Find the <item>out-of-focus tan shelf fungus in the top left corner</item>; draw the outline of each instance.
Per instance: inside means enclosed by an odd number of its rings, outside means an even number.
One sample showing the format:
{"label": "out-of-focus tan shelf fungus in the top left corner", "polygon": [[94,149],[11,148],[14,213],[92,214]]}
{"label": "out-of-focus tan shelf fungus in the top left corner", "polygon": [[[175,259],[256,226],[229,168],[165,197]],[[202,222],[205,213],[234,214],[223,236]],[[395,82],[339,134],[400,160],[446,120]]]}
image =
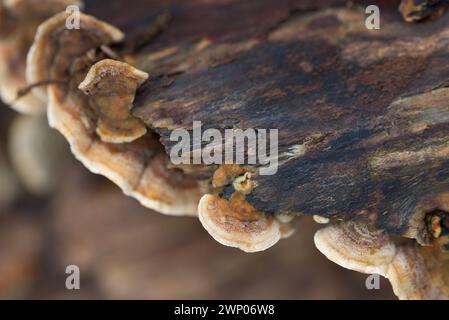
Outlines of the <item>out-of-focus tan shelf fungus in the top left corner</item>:
{"label": "out-of-focus tan shelf fungus in the top left corner", "polygon": [[19,97],[27,87],[26,56],[39,24],[70,5],[81,8],[82,1],[0,1],[0,96],[15,110],[27,114],[45,112],[46,102],[35,95]]}

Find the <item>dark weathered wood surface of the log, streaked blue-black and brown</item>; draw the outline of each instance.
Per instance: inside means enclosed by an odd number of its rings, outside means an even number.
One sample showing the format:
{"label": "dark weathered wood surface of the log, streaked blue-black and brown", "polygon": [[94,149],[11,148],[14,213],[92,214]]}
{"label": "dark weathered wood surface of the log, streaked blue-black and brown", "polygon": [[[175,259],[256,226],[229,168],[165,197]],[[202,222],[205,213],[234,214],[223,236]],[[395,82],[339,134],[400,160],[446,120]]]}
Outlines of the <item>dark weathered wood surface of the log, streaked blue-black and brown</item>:
{"label": "dark weathered wood surface of the log, streaked blue-black and brown", "polygon": [[[381,29],[367,30],[364,8],[338,1],[323,10],[246,3],[175,5],[173,23],[200,22],[169,27],[133,57],[153,76],[134,115],[167,152],[170,129],[193,120],[203,129],[278,128],[281,166],[256,177],[252,205],[405,232],[417,207],[449,186],[449,17],[406,24],[391,2]],[[298,147],[305,153],[292,155]]]}

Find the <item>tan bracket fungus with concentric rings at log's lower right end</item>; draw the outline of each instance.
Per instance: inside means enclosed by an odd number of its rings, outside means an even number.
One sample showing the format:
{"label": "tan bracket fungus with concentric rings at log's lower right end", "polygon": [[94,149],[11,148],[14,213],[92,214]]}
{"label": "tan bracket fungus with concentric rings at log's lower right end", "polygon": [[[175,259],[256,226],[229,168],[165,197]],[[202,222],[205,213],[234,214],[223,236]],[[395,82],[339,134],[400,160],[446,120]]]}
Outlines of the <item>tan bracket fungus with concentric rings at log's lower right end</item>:
{"label": "tan bracket fungus with concentric rings at log's lower right end", "polygon": [[361,222],[329,225],[315,234],[315,245],[331,261],[362,273],[386,277],[400,299],[449,299],[448,238],[429,246],[396,243]]}

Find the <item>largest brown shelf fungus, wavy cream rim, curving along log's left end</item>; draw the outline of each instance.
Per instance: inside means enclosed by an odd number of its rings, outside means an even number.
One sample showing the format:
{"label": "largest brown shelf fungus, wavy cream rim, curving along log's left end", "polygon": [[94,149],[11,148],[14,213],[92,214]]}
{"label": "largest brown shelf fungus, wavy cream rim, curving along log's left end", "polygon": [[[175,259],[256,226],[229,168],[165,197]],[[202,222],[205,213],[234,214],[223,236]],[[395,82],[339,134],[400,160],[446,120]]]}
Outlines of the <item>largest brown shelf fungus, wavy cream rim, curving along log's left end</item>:
{"label": "largest brown shelf fungus, wavy cream rim, curving along log's left end", "polygon": [[48,96],[50,125],[90,171],[106,176],[142,205],[166,214],[196,215],[196,181],[168,169],[157,137],[129,116],[135,91],[147,75],[122,62],[100,61],[105,56],[96,49],[121,41],[123,34],[85,14],[80,30],[66,30],[65,19],[62,13],[43,23],[28,55],[30,83],[58,81],[46,91],[35,89]]}

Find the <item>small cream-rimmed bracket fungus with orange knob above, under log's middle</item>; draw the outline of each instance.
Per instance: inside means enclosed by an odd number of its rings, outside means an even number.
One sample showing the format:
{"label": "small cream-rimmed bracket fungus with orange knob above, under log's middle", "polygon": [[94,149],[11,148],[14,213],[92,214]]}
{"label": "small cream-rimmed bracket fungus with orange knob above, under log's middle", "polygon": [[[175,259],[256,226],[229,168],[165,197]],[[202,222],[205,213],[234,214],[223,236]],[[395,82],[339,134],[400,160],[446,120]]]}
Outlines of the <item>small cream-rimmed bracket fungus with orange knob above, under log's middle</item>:
{"label": "small cream-rimmed bracket fungus with orange knob above, under log's middle", "polygon": [[203,227],[219,243],[245,252],[258,252],[291,236],[295,229],[292,216],[270,215],[255,209],[245,197],[255,187],[253,174],[239,165],[222,165],[214,171],[212,186],[215,191],[230,187],[229,199],[206,194],[198,205],[198,216]]}

